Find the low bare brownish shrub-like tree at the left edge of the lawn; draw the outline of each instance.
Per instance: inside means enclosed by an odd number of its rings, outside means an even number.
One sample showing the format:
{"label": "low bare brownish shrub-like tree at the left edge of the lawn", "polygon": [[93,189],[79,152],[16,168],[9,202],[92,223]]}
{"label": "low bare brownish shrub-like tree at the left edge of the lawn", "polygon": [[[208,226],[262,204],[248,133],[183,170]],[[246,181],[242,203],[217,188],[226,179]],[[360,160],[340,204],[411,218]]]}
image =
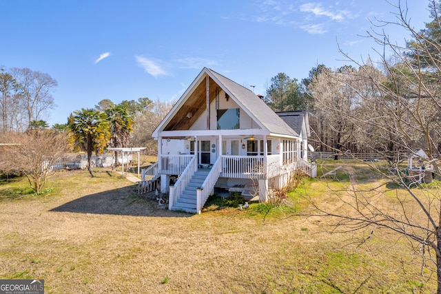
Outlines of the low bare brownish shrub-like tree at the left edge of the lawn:
{"label": "low bare brownish shrub-like tree at the left edge of the lawn", "polygon": [[70,149],[67,134],[48,129],[4,134],[0,142],[8,143],[0,146],[0,169],[24,174],[35,193],[45,186],[52,165]]}

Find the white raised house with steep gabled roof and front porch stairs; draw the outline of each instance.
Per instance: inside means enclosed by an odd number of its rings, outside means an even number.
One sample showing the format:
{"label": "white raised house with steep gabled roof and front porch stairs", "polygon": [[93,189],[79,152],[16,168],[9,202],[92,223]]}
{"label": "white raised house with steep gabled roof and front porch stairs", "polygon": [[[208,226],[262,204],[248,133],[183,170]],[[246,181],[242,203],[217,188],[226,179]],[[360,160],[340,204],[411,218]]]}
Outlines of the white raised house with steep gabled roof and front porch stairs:
{"label": "white raised house with steep gabled roof and front porch stairs", "polygon": [[154,130],[158,162],[143,171],[143,183],[161,180],[170,210],[200,213],[215,187],[254,184],[266,201],[269,188],[283,187],[296,169],[314,176],[308,134],[305,113],[276,114],[251,90],[205,67]]}

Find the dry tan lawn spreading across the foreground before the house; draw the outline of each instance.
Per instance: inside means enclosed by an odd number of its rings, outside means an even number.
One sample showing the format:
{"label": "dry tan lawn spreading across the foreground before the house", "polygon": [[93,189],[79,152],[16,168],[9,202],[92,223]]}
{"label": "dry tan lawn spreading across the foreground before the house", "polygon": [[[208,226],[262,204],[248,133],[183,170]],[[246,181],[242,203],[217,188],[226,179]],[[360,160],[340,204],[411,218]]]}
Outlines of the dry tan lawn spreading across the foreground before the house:
{"label": "dry tan lawn spreading across the foreground before the house", "polygon": [[[46,293],[413,293],[422,281],[418,257],[387,233],[346,246],[361,236],[325,233],[319,218],[168,211],[106,171],[49,185],[0,200],[0,278],[44,279]],[[298,189],[330,197],[317,180]]]}

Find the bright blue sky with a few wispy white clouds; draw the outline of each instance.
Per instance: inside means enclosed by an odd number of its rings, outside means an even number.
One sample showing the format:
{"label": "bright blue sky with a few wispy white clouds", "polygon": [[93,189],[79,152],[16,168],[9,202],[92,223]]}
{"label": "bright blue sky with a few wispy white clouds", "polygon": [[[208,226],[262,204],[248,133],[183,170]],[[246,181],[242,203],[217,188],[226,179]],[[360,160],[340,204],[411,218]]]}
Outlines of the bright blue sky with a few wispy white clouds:
{"label": "bright blue sky with a few wispy white clouds", "polygon": [[[424,28],[429,2],[408,2],[411,23]],[[14,0],[0,10],[0,65],[58,82],[50,125],[103,99],[176,100],[203,67],[265,95],[278,72],[300,81],[320,63],[350,64],[338,45],[375,60],[369,19],[393,21],[396,12],[385,0]]]}

